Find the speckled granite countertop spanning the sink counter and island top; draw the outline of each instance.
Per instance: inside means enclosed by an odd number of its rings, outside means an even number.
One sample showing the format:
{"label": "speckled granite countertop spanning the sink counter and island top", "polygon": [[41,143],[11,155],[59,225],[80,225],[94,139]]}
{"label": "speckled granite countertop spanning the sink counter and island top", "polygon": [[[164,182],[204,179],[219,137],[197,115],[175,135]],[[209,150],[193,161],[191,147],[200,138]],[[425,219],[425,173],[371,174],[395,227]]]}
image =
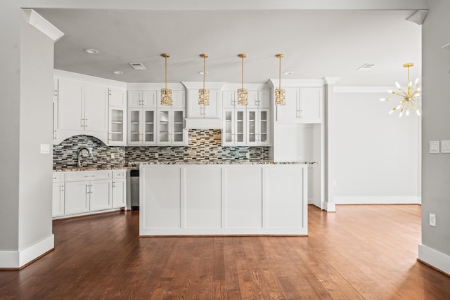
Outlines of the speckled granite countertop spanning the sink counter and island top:
{"label": "speckled granite countertop spanning the sink counter and island top", "polygon": [[317,164],[317,162],[274,162],[273,160],[209,160],[205,161],[178,161],[178,162],[165,162],[165,161],[151,161],[151,162],[132,162],[126,166],[118,167],[65,167],[53,169],[54,172],[58,171],[96,171],[96,170],[117,170],[117,169],[139,169],[140,164]]}

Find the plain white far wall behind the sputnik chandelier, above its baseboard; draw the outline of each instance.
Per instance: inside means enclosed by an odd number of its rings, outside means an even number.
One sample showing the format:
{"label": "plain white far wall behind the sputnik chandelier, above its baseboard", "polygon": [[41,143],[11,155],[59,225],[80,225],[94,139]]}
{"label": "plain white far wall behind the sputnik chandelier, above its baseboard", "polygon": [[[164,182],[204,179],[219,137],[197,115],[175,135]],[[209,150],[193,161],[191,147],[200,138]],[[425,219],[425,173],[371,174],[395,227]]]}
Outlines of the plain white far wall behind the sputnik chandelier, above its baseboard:
{"label": "plain white far wall behind the sputnik chandelier, above its baseboard", "polygon": [[337,91],[335,203],[418,203],[420,118],[389,115],[398,100],[380,102],[387,92]]}

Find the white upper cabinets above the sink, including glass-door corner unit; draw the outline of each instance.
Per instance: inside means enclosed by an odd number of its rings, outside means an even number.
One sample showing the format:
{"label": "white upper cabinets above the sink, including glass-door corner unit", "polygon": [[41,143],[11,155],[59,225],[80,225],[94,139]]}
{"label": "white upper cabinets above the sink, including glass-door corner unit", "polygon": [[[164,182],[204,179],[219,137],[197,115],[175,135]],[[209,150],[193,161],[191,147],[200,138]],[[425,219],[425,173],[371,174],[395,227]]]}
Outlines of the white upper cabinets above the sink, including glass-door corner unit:
{"label": "white upper cabinets above the sink, including glass-door corner unit", "polygon": [[86,134],[124,145],[126,89],[119,81],[55,70],[53,143]]}

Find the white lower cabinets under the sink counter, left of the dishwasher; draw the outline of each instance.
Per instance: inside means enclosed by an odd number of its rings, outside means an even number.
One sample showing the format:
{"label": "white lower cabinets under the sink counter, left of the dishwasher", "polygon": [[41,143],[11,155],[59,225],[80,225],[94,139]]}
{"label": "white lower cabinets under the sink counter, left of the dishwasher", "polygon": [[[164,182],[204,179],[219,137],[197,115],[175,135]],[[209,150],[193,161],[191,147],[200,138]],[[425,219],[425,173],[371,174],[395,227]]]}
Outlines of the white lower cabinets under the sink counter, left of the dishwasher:
{"label": "white lower cabinets under the sink counter, left of the dishwasher", "polygon": [[53,172],[53,217],[127,205],[125,170]]}

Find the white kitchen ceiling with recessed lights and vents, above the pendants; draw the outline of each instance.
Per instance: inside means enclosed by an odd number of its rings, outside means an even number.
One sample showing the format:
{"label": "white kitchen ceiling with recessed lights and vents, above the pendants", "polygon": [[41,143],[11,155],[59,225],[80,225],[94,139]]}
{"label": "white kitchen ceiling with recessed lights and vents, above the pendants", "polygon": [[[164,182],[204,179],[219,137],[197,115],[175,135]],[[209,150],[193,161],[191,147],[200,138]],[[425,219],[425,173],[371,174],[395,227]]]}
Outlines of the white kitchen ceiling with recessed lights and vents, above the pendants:
{"label": "white kitchen ceiling with recessed lights and vents, above the pendants", "polygon": [[[64,32],[55,44],[55,67],[126,82],[164,81],[164,58],[170,53],[168,80],[201,81],[207,58],[207,81],[245,82],[340,77],[341,86],[392,86],[406,81],[403,63],[414,63],[420,77],[421,29],[406,21],[413,10],[130,10],[36,8]],[[84,48],[96,48],[89,55]],[[133,70],[139,62],[147,70]],[[364,63],[371,70],[356,71]],[[113,74],[121,70],[122,75]]]}

